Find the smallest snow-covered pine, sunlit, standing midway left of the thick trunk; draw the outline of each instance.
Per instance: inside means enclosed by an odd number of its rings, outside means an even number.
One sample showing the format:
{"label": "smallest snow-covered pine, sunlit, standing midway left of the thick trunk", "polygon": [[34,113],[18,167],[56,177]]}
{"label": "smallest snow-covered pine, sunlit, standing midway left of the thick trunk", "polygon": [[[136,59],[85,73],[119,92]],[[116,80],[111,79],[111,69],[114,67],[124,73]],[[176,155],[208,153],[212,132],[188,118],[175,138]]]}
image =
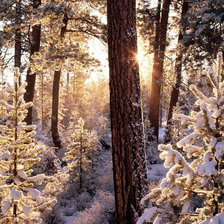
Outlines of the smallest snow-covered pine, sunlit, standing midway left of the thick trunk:
{"label": "smallest snow-covered pine, sunlit, standing midway left of the thick trunk", "polygon": [[93,154],[98,149],[96,134],[86,130],[84,125],[85,121],[79,118],[77,125],[73,126],[74,130],[65,157],[72,181],[79,183],[79,191],[82,190],[85,175],[91,168]]}

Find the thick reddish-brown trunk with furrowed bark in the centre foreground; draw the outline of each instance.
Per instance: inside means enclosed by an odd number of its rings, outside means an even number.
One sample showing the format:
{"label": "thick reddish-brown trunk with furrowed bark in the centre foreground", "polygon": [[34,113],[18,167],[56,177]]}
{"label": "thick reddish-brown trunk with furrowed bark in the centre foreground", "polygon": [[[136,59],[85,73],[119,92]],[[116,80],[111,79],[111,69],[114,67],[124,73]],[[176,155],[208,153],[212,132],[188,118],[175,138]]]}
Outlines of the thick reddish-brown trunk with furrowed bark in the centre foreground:
{"label": "thick reddish-brown trunk with furrowed bark in the centre foreground", "polygon": [[146,189],[136,1],[108,0],[110,109],[118,224],[136,223]]}

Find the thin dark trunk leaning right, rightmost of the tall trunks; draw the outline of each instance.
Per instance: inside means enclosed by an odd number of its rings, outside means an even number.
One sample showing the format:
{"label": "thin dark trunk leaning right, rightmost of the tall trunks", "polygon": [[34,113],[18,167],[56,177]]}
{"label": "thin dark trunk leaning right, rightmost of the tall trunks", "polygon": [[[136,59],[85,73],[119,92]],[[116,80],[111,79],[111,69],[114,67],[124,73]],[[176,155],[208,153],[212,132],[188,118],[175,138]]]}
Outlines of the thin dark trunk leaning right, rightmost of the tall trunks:
{"label": "thin dark trunk leaning right, rightmost of the tall trunks", "polygon": [[175,74],[176,74],[176,83],[175,86],[172,89],[171,92],[171,98],[170,98],[170,108],[168,113],[168,121],[167,123],[170,124],[171,118],[173,116],[173,108],[177,105],[178,97],[179,97],[179,91],[180,91],[180,84],[181,84],[181,70],[182,70],[182,58],[183,58],[183,46],[182,46],[182,40],[183,40],[183,33],[184,33],[184,18],[188,11],[188,2],[186,0],[183,0],[183,6],[182,6],[182,12],[181,12],[181,24],[180,24],[180,33],[178,36],[178,46],[180,47],[177,58],[176,58],[176,64],[175,64]]}

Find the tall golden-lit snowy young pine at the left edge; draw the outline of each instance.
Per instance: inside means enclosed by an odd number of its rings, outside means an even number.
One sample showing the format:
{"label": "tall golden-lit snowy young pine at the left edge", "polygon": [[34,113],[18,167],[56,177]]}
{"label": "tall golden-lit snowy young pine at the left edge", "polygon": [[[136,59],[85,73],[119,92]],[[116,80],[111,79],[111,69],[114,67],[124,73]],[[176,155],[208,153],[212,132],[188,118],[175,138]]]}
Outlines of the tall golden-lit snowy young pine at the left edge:
{"label": "tall golden-lit snowy young pine at the left edge", "polygon": [[[32,167],[39,161],[42,148],[35,145],[35,126],[26,125],[24,118],[32,103],[25,103],[26,83],[19,86],[19,69],[15,86],[8,84],[1,100],[0,125],[0,223],[41,223],[39,211],[51,203],[36,188],[46,180],[44,174],[32,176]],[[7,116],[6,116],[7,115]]]}

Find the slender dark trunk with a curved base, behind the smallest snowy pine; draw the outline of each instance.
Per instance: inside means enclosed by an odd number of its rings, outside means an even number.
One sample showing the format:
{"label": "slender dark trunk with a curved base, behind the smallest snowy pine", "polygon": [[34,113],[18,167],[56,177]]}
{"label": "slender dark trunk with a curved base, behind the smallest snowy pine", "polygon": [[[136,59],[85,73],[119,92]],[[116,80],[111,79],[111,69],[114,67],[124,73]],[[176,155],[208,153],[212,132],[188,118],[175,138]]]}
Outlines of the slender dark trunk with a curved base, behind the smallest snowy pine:
{"label": "slender dark trunk with a curved base, behind the smallest snowy pine", "polygon": [[[68,16],[64,15],[63,18],[64,26],[61,28],[60,37],[64,38],[67,24]],[[52,96],[52,114],[51,114],[51,134],[55,147],[61,148],[61,140],[58,132],[58,109],[59,109],[59,89],[60,89],[60,77],[61,70],[54,72],[53,80],[53,96]]]}

